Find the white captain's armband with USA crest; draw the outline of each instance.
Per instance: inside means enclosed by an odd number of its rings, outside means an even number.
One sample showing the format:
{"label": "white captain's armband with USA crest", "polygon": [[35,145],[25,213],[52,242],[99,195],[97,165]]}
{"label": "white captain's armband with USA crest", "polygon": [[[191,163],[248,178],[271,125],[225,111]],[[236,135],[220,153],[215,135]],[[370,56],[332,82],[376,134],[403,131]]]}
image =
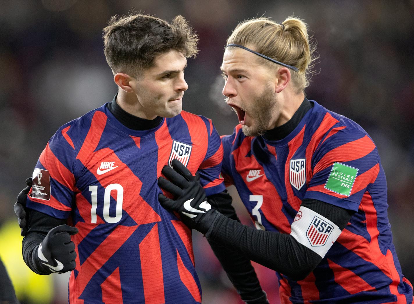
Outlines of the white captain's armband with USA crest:
{"label": "white captain's armband with USA crest", "polygon": [[290,235],[323,258],[341,232],[326,217],[301,206],[291,225]]}

